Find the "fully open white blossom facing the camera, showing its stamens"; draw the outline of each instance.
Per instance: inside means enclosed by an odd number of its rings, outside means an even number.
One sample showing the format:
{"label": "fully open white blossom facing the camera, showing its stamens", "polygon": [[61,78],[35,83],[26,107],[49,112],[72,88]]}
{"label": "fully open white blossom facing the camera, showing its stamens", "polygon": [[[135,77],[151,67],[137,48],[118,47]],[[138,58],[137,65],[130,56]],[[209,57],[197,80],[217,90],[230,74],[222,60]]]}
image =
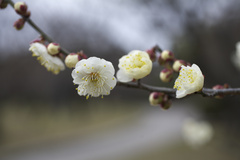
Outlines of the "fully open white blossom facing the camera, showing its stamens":
{"label": "fully open white blossom facing the camera, showing its stamens", "polygon": [[73,83],[78,85],[80,96],[98,97],[109,95],[116,86],[114,67],[111,62],[97,57],[80,60],[72,71]]}

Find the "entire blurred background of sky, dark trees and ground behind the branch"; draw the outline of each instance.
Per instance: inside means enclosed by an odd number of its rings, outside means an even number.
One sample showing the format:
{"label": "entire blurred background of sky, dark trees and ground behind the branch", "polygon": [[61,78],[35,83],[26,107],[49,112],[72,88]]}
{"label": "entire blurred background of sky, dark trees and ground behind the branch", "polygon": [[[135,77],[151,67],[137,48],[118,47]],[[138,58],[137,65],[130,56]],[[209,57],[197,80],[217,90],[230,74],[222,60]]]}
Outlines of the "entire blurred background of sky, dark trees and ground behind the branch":
{"label": "entire blurred background of sky, dark trees and ground behind the branch", "polygon": [[[205,87],[240,87],[231,57],[240,41],[238,0],[25,0],[32,20],[71,52],[111,61],[158,44],[196,63]],[[0,159],[145,160],[239,159],[240,97],[192,95],[164,111],[149,93],[117,86],[109,96],[86,100],[71,70],[47,72],[28,51],[39,34],[8,6],[0,10]],[[143,82],[159,80],[161,67]],[[177,76],[177,75],[176,75]],[[182,138],[186,118],[208,121],[214,135],[193,148]]]}

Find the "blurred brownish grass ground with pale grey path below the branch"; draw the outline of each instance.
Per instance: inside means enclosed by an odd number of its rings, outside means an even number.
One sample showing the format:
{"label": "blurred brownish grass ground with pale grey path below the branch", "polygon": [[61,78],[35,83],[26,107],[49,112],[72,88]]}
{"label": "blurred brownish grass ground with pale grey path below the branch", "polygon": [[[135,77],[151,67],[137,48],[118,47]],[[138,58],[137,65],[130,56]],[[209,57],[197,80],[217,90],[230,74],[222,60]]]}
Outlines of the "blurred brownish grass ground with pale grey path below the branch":
{"label": "blurred brownish grass ground with pale grey path below the branch", "polygon": [[6,103],[1,110],[5,139],[0,145],[0,159],[198,159],[199,155],[199,159],[224,160],[230,153],[219,152],[223,139],[218,139],[218,132],[211,143],[198,150],[183,143],[183,120],[199,117],[189,104],[163,111],[147,103],[112,102],[114,107],[109,102],[90,103],[92,107],[85,111],[73,111],[77,104],[48,110],[41,102],[28,107]]}

